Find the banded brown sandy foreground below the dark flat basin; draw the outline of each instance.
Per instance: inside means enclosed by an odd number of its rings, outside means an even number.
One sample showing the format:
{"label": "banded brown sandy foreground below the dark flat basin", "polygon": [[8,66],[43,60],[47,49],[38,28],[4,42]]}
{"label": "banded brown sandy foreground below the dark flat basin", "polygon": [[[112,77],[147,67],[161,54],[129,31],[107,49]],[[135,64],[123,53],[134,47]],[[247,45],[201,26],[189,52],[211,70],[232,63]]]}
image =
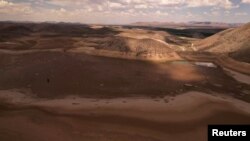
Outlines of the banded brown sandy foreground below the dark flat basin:
{"label": "banded brown sandy foreground below the dark flat basin", "polygon": [[1,100],[12,104],[0,109],[0,140],[8,141],[205,141],[207,124],[250,122],[249,103],[200,92],[49,100],[12,90],[0,91]]}

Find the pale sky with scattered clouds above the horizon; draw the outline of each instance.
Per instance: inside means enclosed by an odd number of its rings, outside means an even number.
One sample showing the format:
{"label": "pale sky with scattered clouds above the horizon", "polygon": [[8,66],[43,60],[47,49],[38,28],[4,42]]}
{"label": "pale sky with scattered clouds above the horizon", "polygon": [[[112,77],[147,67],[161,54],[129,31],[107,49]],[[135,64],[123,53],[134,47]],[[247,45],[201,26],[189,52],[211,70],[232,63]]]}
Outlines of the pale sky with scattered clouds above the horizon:
{"label": "pale sky with scattered clouds above the horizon", "polygon": [[250,0],[0,0],[1,21],[250,22]]}

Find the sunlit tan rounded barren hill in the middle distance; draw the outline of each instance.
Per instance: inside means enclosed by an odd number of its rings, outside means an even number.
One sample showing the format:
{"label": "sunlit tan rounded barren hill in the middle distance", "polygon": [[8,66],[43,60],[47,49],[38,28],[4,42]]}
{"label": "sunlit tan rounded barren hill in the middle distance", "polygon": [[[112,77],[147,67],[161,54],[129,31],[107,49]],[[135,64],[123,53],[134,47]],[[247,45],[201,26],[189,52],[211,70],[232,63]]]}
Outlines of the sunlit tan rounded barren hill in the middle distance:
{"label": "sunlit tan rounded barren hill in the middle distance", "polygon": [[168,34],[165,32],[121,30],[120,34],[115,36],[85,38],[82,45],[85,44],[85,46],[96,49],[135,52],[137,55],[162,54],[173,51],[170,45],[165,42],[166,35]]}

